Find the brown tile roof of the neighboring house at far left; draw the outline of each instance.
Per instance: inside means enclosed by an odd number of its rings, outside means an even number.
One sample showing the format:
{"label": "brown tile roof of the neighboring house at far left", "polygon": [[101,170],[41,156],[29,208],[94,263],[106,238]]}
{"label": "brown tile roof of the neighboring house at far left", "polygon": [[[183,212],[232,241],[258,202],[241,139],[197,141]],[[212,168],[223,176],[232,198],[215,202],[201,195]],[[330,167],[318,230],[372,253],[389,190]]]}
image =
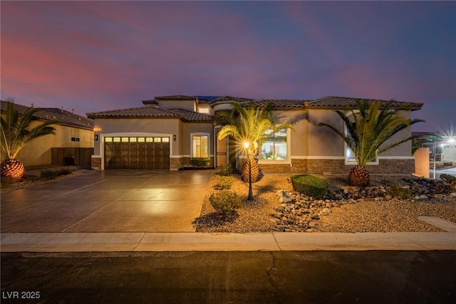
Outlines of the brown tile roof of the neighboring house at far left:
{"label": "brown tile roof of the neighboring house at far left", "polygon": [[[6,110],[6,101],[1,100],[1,111]],[[18,105],[14,103],[14,109],[19,111],[19,114],[24,113],[28,108],[25,105]],[[69,125],[73,127],[79,127],[87,130],[93,130],[93,120],[90,118],[74,114],[67,110],[58,108],[41,108],[40,111],[33,115],[41,120],[58,120],[61,125]]]}

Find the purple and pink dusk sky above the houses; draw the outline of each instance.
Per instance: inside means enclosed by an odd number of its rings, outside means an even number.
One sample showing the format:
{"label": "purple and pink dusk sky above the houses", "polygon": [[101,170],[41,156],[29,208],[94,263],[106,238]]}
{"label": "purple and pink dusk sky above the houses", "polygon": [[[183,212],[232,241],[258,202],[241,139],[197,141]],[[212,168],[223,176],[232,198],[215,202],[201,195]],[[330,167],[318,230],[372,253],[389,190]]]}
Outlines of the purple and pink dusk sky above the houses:
{"label": "purple and pink dusk sky above the houses", "polygon": [[86,112],[162,95],[425,103],[456,126],[456,2],[1,1],[1,100]]}

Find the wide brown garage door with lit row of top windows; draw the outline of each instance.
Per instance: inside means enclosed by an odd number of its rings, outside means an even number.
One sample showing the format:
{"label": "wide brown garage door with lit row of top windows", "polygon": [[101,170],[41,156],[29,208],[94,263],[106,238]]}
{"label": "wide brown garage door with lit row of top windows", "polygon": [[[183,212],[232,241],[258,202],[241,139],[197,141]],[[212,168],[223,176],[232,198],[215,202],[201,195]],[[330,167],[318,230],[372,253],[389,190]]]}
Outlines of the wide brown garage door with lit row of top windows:
{"label": "wide brown garage door with lit row of top windows", "polygon": [[170,169],[170,137],[105,137],[105,169]]}

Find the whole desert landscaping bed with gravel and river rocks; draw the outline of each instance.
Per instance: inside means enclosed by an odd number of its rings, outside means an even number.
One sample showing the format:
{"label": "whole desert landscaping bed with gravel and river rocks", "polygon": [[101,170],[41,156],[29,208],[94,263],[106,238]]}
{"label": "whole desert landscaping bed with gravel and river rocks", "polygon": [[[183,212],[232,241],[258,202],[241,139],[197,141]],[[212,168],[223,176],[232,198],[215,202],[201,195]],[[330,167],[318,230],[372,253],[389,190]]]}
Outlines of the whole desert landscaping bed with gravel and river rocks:
{"label": "whole desert landscaping bed with gravel and river rocks", "polygon": [[[412,177],[372,176],[368,190],[348,187],[346,177],[321,176],[329,184],[322,199],[293,192],[288,174],[266,174],[253,184],[254,201],[247,200],[249,184],[232,174],[232,190],[242,197],[242,208],[222,216],[209,202],[217,192],[214,174],[207,187],[202,212],[194,222],[199,232],[249,233],[266,231],[303,232],[435,232],[418,216],[437,216],[456,223],[456,195],[443,182]],[[401,199],[386,194],[387,185],[410,189]],[[285,190],[291,201],[279,201],[276,192]]]}

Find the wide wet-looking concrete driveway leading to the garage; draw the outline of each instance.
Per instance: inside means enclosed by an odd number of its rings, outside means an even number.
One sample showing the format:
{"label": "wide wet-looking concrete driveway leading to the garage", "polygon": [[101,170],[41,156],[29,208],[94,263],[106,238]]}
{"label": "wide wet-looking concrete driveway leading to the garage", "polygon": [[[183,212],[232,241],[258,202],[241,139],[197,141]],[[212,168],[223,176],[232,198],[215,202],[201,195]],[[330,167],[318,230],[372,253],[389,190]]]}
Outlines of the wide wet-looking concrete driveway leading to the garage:
{"label": "wide wet-looking concrete driveway leading to the garage", "polygon": [[1,232],[195,231],[213,170],[108,170],[1,194]]}

